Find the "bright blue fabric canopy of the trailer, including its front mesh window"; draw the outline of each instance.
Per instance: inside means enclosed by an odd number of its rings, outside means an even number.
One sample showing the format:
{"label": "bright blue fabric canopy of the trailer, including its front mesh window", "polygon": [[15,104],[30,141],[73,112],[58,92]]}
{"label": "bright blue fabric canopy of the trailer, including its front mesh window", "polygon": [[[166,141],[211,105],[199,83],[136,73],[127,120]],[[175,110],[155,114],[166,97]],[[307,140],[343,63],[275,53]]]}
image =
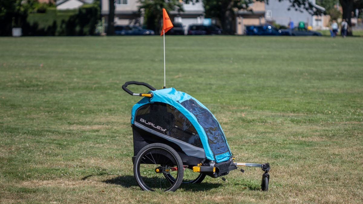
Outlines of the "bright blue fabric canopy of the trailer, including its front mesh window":
{"label": "bright blue fabric canopy of the trailer, including its front mesh window", "polygon": [[207,107],[197,99],[174,88],[150,92],[153,93],[153,97],[144,97],[132,107],[131,124],[134,124],[135,113],[139,107],[154,102],[167,103],[178,109],[195,127],[207,159],[219,163],[227,161],[231,157],[231,150],[224,132]]}

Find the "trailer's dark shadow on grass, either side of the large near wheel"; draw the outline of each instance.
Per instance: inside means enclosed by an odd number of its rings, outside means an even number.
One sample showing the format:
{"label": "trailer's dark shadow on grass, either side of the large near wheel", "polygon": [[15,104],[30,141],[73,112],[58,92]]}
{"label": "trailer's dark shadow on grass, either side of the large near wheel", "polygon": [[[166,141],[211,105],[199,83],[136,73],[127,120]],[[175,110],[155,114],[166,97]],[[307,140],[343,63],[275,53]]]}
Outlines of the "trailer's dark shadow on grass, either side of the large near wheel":
{"label": "trailer's dark shadow on grass, either side of the large near wheel", "polygon": [[[134,176],[118,176],[112,179],[107,179],[102,181],[107,184],[122,185],[125,188],[138,186]],[[213,188],[218,188],[222,184],[219,183],[200,183],[200,184],[181,184],[179,189],[184,189],[184,191],[208,191]]]}

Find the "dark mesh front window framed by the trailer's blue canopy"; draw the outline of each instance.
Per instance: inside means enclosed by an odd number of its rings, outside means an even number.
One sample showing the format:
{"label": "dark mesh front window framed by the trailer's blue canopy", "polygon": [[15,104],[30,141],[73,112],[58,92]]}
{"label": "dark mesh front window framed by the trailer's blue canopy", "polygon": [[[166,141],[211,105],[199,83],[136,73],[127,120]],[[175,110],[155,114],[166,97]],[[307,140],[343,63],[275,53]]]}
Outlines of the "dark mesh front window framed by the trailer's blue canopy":
{"label": "dark mesh front window framed by the trailer's blue canopy", "polygon": [[205,134],[207,134],[209,147],[211,147],[214,155],[229,151],[219,123],[211,112],[201,107],[193,99],[183,101],[180,104],[197,118],[198,123],[203,127]]}

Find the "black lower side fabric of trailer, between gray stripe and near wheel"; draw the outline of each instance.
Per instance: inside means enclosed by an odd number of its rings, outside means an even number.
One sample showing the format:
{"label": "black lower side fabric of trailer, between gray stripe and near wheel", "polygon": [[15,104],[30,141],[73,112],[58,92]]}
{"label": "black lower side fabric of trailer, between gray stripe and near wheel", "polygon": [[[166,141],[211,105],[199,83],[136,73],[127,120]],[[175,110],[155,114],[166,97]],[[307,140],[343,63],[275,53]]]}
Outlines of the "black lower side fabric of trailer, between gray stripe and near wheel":
{"label": "black lower side fabric of trailer, between gray stripe and near wheel", "polygon": [[[188,156],[186,155],[181,148],[175,144],[170,142],[169,140],[160,138],[157,135],[154,135],[148,131],[142,130],[139,127],[136,127],[135,125],[132,126],[132,133],[133,133],[133,140],[134,140],[134,156],[132,157],[132,163],[135,161],[135,156],[139,153],[139,151],[147,146],[148,144],[152,143],[163,143],[167,144],[168,146],[172,147],[176,152],[178,152],[181,160],[183,161],[183,165],[188,165],[190,167],[196,166],[199,163],[203,163],[203,161],[206,161],[204,163],[209,164],[209,160]],[[153,164],[150,161],[150,164]]]}

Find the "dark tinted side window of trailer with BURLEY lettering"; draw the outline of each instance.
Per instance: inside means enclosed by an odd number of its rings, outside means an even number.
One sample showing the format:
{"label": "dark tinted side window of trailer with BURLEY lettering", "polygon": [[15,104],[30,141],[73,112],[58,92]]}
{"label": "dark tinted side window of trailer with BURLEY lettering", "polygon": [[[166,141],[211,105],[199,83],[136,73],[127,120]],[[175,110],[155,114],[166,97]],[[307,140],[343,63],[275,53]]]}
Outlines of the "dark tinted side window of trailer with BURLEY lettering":
{"label": "dark tinted side window of trailer with BURLEY lettering", "polygon": [[192,123],[174,106],[148,103],[136,111],[135,122],[161,134],[203,148]]}

